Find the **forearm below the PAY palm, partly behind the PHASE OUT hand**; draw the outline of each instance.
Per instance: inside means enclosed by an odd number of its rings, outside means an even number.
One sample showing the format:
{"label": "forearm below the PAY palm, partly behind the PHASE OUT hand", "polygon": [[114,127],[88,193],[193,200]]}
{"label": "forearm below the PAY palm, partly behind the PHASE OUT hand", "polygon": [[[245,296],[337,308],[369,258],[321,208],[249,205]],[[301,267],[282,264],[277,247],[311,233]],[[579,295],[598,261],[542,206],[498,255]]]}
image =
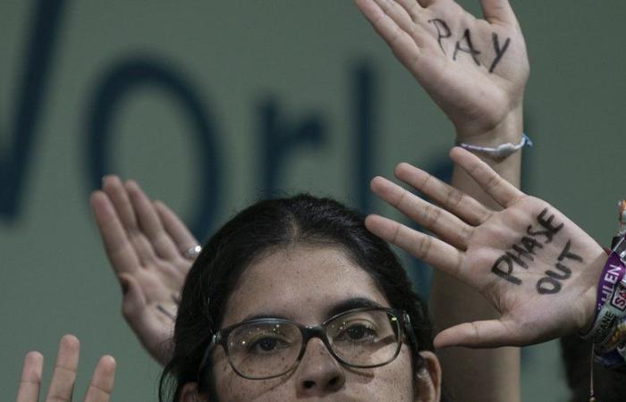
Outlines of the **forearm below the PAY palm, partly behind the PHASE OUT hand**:
{"label": "forearm below the PAY palm, partly behind the PHASE OUT hand", "polygon": [[[457,131],[460,130],[457,128]],[[472,138],[473,145],[496,147],[505,142],[519,142],[522,132],[521,108],[509,120],[481,138]],[[462,133],[459,132],[463,141]],[[468,140],[469,142],[469,140]],[[504,179],[520,186],[521,153],[496,161],[484,157]],[[453,167],[452,185],[484,205],[501,209],[491,197],[471,180],[467,172]],[[430,290],[430,306],[436,331],[461,322],[498,317],[495,308],[474,289],[444,272],[435,270]],[[469,349],[444,348],[437,351],[444,367],[444,386],[453,400],[509,402],[519,400],[520,353],[518,348]],[[477,386],[477,384],[485,384]],[[488,385],[487,385],[488,384]],[[469,395],[470,393],[470,395]]]}

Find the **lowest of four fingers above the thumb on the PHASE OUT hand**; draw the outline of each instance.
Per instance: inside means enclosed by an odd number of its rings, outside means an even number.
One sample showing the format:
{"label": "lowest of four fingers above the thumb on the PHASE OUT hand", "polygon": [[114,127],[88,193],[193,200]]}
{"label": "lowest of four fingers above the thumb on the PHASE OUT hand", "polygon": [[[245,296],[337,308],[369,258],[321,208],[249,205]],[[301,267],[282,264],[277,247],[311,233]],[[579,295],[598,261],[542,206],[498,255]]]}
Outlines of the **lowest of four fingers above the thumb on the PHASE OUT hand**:
{"label": "lowest of four fingers above the thumb on the PHASE OUT hand", "polygon": [[401,247],[426,264],[466,281],[460,271],[463,253],[444,241],[378,215],[369,215],[365,226],[379,238]]}

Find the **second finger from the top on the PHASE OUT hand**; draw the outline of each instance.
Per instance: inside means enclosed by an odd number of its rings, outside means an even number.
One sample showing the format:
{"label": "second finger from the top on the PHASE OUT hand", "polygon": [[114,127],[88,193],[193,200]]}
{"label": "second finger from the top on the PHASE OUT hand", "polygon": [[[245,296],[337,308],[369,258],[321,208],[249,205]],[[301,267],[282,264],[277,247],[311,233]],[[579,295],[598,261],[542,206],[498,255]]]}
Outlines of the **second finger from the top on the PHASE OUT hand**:
{"label": "second finger from the top on the PHASE OUT hand", "polygon": [[463,221],[478,226],[493,213],[473,197],[469,197],[457,188],[453,188],[409,163],[400,163],[394,171],[395,177],[416,188],[424,195],[459,216]]}

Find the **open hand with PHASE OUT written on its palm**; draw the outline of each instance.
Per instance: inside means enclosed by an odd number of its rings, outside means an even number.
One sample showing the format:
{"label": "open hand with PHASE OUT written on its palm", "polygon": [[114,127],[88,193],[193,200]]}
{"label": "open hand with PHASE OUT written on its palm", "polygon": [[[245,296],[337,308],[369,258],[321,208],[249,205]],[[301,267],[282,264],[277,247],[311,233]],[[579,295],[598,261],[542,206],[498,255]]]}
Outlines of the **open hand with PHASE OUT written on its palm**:
{"label": "open hand with PHASE OUT written on its palm", "polygon": [[586,328],[606,261],[602,247],[554,206],[525,195],[477,156],[459,147],[450,156],[503,210],[489,209],[401,163],[396,177],[442,207],[380,177],[371,188],[438,238],[381,216],[366,220],[377,236],[467,283],[502,314],[448,328],[436,336],[436,347],[522,346]]}

